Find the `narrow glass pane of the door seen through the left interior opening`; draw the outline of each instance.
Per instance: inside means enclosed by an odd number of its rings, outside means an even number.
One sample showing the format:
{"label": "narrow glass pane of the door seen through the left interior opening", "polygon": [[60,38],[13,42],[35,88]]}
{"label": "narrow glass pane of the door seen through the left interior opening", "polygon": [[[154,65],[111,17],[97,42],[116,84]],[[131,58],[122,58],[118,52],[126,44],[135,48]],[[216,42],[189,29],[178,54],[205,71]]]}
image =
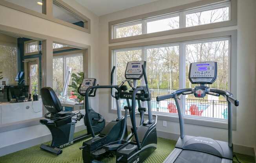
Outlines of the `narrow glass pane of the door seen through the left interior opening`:
{"label": "narrow glass pane of the door seen through the left interior opening", "polygon": [[38,94],[38,65],[37,64],[30,66],[30,89],[31,89],[31,97],[33,97],[33,94]]}

